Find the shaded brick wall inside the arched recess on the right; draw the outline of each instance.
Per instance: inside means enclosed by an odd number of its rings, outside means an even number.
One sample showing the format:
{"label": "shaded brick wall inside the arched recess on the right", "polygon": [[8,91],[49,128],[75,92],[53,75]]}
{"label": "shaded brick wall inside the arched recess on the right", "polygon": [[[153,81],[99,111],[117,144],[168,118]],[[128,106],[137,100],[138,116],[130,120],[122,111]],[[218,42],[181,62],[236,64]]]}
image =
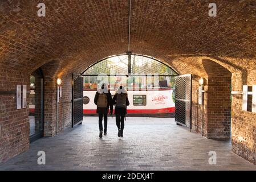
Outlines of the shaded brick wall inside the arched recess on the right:
{"label": "shaded brick wall inside the arched recess on the right", "polygon": [[205,136],[213,139],[229,139],[231,127],[231,72],[220,64],[203,59],[207,74],[207,122]]}

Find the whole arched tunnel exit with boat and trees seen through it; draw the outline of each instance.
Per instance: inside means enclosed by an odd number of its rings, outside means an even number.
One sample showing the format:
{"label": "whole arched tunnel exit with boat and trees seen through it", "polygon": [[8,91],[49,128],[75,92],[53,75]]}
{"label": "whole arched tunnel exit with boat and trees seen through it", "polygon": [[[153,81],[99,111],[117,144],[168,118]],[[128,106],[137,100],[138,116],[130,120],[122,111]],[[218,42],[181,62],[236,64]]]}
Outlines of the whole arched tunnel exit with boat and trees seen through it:
{"label": "whole arched tunnel exit with boat and trees seen through it", "polygon": [[169,65],[151,56],[124,54],[106,57],[85,69],[83,113],[96,116],[97,86],[107,84],[112,97],[120,85],[128,92],[127,117],[173,117],[175,77]]}

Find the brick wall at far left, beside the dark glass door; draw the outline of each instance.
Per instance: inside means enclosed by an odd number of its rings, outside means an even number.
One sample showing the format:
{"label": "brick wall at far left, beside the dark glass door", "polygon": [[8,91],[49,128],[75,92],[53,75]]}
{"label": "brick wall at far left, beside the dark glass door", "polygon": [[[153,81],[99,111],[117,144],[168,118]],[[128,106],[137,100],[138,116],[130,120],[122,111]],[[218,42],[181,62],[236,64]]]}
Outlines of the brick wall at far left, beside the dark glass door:
{"label": "brick wall at far left, beside the dark glass door", "polygon": [[[23,72],[9,67],[0,67],[0,163],[29,148],[29,107],[16,109],[16,85],[27,85],[30,78]],[[29,97],[27,95],[27,102]]]}

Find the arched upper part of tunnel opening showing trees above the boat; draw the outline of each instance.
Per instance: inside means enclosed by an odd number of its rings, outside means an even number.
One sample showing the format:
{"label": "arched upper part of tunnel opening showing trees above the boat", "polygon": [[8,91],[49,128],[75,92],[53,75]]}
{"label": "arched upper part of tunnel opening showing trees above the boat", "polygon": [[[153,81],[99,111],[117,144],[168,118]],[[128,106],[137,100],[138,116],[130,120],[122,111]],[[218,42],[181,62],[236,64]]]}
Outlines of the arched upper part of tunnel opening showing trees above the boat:
{"label": "arched upper part of tunnel opening showing trees above the boat", "polygon": [[174,77],[178,75],[169,65],[153,57],[116,55],[97,61],[81,73],[85,89],[96,89],[100,82],[98,76],[103,74],[108,76],[109,83],[115,83],[109,85],[111,89],[119,85],[139,89],[148,89],[152,85],[174,88]]}

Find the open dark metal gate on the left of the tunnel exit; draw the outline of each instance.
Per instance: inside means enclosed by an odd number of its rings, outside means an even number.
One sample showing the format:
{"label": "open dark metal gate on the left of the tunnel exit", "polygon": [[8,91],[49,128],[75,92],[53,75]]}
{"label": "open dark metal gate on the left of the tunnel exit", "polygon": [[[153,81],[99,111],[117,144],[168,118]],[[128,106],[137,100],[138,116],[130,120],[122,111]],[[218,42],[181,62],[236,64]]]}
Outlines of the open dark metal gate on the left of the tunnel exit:
{"label": "open dark metal gate on the left of the tunnel exit", "polygon": [[72,127],[83,121],[83,76],[72,74]]}

